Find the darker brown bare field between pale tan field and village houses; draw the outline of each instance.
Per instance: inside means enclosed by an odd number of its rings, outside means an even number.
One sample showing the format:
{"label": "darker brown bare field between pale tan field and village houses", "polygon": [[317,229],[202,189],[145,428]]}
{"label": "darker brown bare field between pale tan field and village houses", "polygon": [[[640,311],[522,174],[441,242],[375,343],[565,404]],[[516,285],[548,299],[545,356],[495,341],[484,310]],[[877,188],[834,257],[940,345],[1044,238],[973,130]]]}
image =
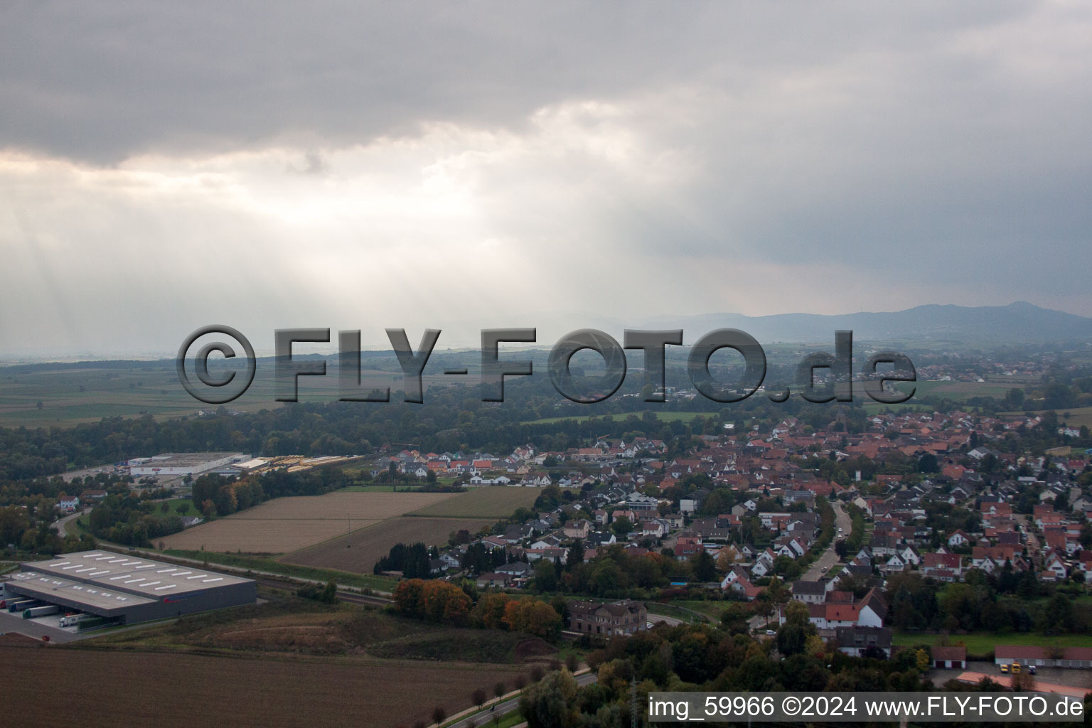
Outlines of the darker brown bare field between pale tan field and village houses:
{"label": "darker brown bare field between pale tan field and village houses", "polygon": [[465,528],[472,534],[491,526],[496,518],[427,518],[402,516],[358,528],[352,534],[294,551],[281,558],[286,563],[322,569],[337,569],[370,574],[380,558],[397,542],[442,546],[453,530]]}

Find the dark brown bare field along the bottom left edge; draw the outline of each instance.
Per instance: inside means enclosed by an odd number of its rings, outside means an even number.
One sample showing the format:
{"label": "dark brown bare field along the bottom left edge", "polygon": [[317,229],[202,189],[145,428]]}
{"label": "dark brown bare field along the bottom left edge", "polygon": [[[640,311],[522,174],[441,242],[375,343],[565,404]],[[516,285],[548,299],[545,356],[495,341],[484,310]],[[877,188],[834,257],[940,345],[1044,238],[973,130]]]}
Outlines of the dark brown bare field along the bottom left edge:
{"label": "dark brown bare field along the bottom left edge", "polygon": [[4,680],[3,703],[12,725],[24,728],[222,728],[244,718],[271,728],[430,724],[435,706],[449,714],[471,707],[475,689],[511,684],[522,672],[514,665],[367,656],[270,659],[38,645],[0,646],[0,664],[20,666]]}

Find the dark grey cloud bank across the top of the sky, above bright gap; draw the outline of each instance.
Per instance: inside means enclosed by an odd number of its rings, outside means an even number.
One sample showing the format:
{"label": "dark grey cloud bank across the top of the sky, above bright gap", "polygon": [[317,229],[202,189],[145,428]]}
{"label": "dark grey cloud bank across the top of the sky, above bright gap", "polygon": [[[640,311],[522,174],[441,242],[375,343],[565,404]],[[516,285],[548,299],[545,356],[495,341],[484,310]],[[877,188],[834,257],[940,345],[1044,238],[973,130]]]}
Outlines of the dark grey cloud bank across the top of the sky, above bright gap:
{"label": "dark grey cloud bank across the top of the sky, above bright gap", "polygon": [[519,127],[567,99],[717,75],[775,82],[784,70],[867,48],[914,50],[1022,12],[1007,3],[7,3],[0,144],[112,163],[286,138],[359,143],[430,120]]}

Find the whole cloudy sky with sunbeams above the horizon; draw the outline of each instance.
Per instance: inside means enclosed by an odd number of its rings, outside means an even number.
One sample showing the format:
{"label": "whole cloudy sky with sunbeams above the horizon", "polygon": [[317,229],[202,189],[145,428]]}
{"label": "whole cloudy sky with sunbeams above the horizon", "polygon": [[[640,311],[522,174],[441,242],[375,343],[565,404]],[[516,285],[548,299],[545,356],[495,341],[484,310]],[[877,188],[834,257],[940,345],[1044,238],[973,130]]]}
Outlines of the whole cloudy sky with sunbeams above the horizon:
{"label": "whole cloudy sky with sunbeams above the horizon", "polygon": [[1090,37],[1085,2],[4,2],[0,358],[1092,315]]}

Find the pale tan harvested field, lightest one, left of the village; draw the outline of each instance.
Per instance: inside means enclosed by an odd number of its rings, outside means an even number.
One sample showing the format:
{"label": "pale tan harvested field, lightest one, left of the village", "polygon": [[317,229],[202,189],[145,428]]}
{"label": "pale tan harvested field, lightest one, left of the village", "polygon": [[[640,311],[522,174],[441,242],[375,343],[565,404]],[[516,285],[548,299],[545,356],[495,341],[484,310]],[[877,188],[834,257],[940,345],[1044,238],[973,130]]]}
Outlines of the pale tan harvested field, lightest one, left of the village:
{"label": "pale tan harvested field, lightest one, left of the village", "polygon": [[187,528],[161,541],[167,549],[288,553],[346,534],[351,528],[378,524],[455,496],[336,491],[325,496],[277,498],[241,513]]}

